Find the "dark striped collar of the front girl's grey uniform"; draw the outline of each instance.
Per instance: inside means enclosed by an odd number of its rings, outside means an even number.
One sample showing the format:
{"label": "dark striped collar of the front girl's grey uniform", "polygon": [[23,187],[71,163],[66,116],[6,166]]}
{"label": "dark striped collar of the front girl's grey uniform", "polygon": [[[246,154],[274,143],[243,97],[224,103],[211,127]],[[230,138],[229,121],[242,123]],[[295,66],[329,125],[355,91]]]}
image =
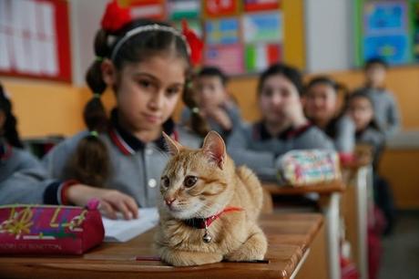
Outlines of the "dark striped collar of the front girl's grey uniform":
{"label": "dark striped collar of the front girl's grey uniform", "polygon": [[[111,123],[112,128],[108,131],[109,137],[124,155],[133,155],[138,152],[138,150],[144,149],[145,143],[143,141],[139,140],[126,129],[120,127],[118,124],[118,113],[115,109],[111,114]],[[163,123],[163,130],[175,140],[178,140],[178,133],[175,130],[175,122],[172,119],[168,119]],[[163,136],[158,138],[158,140],[154,140],[154,143],[159,149],[166,150]]]}

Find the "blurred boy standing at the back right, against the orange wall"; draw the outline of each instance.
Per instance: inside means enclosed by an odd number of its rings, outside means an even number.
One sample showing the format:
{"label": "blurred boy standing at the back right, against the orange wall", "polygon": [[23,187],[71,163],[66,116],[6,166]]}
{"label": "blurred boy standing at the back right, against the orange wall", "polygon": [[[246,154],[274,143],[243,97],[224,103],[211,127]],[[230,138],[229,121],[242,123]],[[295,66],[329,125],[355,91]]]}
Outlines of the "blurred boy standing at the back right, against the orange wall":
{"label": "blurred boy standing at the back right, against the orange wall", "polygon": [[371,58],[365,63],[364,91],[373,100],[375,119],[386,138],[400,129],[400,113],[392,92],[384,87],[387,63],[382,58]]}

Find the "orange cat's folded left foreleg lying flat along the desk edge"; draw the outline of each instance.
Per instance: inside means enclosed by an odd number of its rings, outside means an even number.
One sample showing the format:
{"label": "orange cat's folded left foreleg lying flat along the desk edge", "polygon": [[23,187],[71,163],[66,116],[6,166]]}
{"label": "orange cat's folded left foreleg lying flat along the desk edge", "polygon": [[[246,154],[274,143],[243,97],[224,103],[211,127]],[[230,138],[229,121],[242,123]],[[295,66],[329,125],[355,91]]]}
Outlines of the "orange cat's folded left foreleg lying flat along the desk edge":
{"label": "orange cat's folded left foreleg lying flat along the desk edge", "polygon": [[201,265],[206,263],[220,263],[222,254],[189,252],[169,247],[160,247],[158,253],[163,262],[175,266]]}

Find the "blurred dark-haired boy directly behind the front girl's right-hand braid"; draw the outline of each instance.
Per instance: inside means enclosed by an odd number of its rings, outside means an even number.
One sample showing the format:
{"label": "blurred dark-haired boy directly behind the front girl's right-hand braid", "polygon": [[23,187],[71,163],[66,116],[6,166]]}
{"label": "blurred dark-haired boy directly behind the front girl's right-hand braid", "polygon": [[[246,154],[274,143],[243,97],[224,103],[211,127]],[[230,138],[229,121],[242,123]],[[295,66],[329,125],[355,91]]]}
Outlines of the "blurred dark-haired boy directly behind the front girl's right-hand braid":
{"label": "blurred dark-haired boy directly behind the front girl's right-hand braid", "polygon": [[190,125],[191,114],[198,113],[207,120],[209,129],[228,140],[231,131],[241,125],[240,110],[227,91],[228,80],[218,67],[201,68],[194,80],[198,108],[184,109],[181,122]]}

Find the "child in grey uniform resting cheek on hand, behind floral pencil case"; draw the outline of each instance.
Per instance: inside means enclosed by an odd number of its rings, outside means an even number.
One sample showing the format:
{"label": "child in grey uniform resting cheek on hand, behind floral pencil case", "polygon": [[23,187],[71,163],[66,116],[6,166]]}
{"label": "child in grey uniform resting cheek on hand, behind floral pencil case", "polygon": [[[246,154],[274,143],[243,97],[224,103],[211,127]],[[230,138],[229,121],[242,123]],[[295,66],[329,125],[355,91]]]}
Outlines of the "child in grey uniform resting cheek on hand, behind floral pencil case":
{"label": "child in grey uniform resting cheek on hand, behind floral pencil case", "polygon": [[227,150],[236,164],[245,164],[262,180],[274,181],[276,160],[289,150],[333,149],[332,141],[302,112],[301,73],[272,65],[259,79],[261,120],[235,131]]}

